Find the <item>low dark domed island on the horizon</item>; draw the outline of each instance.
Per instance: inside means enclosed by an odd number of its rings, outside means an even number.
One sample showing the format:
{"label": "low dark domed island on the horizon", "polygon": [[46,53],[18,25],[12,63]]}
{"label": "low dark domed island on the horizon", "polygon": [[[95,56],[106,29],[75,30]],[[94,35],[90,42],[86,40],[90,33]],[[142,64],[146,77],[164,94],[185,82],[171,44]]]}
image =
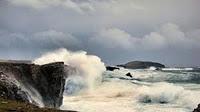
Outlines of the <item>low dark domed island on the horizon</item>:
{"label": "low dark domed island on the horizon", "polygon": [[165,65],[156,63],[156,62],[148,62],[148,61],[132,61],[128,62],[123,65],[117,65],[119,67],[129,68],[129,69],[145,69],[149,68],[151,66],[154,66],[156,68],[164,68]]}

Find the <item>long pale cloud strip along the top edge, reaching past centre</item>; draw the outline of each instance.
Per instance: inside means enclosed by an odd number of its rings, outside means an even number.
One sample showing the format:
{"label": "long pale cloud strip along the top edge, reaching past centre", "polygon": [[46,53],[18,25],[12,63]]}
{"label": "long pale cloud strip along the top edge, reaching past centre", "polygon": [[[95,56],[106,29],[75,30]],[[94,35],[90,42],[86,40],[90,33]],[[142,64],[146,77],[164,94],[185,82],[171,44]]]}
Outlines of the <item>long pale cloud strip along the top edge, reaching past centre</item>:
{"label": "long pale cloud strip along the top edge, reaching past centre", "polygon": [[110,13],[123,15],[134,10],[144,10],[141,5],[136,5],[133,0],[8,0],[16,6],[31,7],[34,9],[45,9],[51,7],[63,7],[72,9],[80,14],[90,12]]}

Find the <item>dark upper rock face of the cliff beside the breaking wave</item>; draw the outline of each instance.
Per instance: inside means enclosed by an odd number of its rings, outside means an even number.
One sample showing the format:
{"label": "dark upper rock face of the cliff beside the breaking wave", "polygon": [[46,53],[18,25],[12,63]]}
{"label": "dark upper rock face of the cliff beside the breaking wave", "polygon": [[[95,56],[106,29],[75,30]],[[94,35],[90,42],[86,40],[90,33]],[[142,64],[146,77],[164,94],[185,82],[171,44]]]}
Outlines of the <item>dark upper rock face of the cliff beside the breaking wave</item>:
{"label": "dark upper rock face of the cliff beside the breaking wave", "polygon": [[[62,105],[65,85],[63,62],[41,66],[27,63],[0,62],[0,73],[10,79],[16,79],[17,81],[17,83],[10,80],[6,81],[11,87],[7,90],[13,91],[12,88],[16,89],[17,85],[19,85],[25,89],[30,96],[37,96],[39,93],[44,106],[57,108]],[[0,82],[2,83],[0,83],[0,85],[5,85],[3,81],[0,80]],[[5,92],[7,90],[0,89],[0,92]],[[16,90],[20,90],[20,88],[18,87]],[[16,93],[13,94],[17,95]],[[22,94],[20,96],[24,97],[24,93]],[[12,97],[8,98],[12,99]]]}

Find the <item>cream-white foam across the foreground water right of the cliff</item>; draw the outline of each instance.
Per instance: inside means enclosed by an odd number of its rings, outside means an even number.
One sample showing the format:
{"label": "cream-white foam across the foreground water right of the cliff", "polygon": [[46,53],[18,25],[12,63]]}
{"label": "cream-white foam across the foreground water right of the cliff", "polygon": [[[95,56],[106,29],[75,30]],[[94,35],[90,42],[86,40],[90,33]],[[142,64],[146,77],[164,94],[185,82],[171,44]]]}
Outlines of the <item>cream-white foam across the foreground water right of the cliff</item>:
{"label": "cream-white foam across the foreground water right of the cliff", "polygon": [[[170,83],[140,86],[127,81],[104,82],[92,93],[64,96],[61,109],[80,112],[188,112],[199,103],[195,93]],[[151,99],[145,103],[144,100]]]}

